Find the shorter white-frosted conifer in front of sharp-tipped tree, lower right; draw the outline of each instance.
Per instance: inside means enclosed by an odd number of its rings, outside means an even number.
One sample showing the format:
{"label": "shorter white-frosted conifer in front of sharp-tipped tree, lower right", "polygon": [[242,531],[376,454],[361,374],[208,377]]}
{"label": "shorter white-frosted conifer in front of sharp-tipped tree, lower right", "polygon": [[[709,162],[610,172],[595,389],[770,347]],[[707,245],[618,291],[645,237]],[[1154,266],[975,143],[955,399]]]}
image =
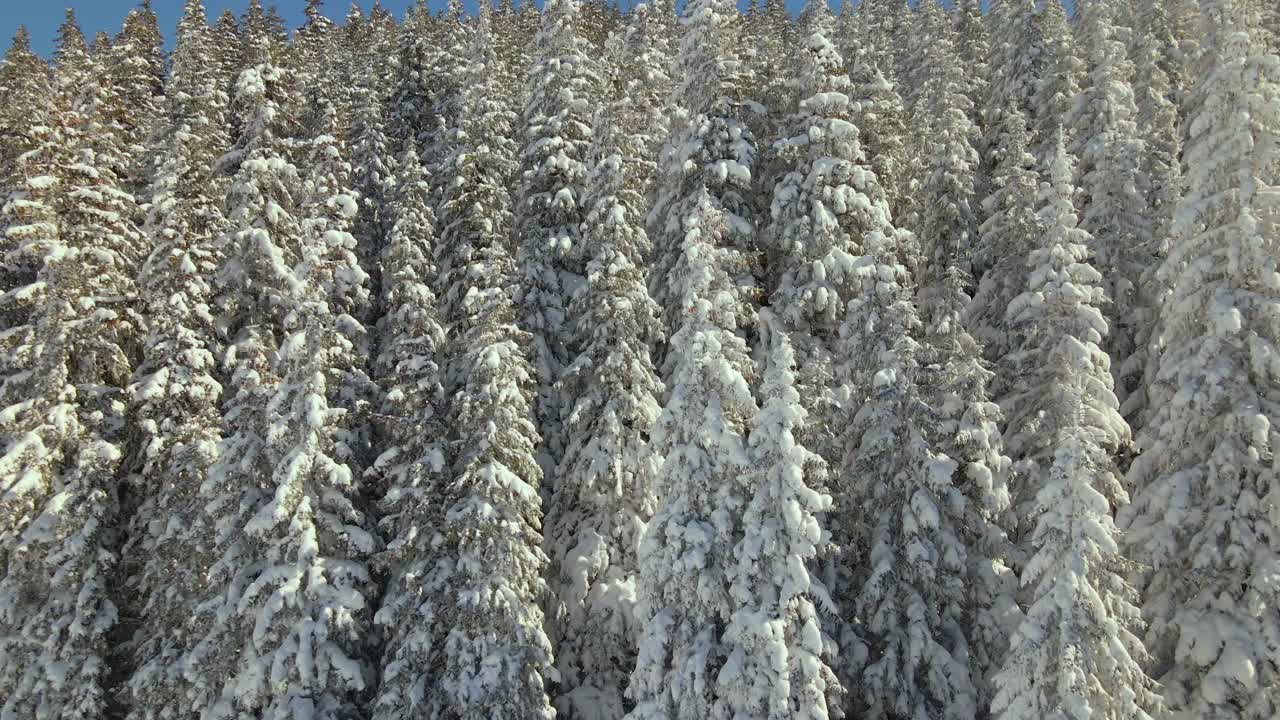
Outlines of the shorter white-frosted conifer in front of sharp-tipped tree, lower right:
{"label": "shorter white-frosted conifer in front of sharp-tipped tree, lower right", "polygon": [[996,676],[991,711],[998,720],[1151,720],[1162,706],[1156,682],[1142,669],[1138,593],[1125,580],[1133,564],[1120,553],[1111,518],[1119,482],[1114,451],[1100,442],[1110,433],[1098,433],[1075,402],[1075,393],[1087,391],[1070,387],[1071,356],[1084,346],[1062,340],[1052,361],[1060,365],[1055,382],[1065,424],[1051,443],[1051,465],[1041,473],[1032,507],[1036,530],[1021,577],[1027,615]]}

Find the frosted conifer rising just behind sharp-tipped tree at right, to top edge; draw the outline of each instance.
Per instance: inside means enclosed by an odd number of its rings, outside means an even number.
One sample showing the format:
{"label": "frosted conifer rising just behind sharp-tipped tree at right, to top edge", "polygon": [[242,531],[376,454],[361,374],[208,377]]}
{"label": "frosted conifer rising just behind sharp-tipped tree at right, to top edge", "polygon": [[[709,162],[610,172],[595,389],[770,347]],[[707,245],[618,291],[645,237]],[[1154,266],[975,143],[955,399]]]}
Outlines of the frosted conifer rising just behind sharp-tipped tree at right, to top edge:
{"label": "frosted conifer rising just behind sharp-tipped tree at right, to top edge", "polygon": [[[1102,272],[1110,302],[1103,307],[1110,333],[1107,354],[1116,374],[1134,354],[1138,328],[1149,322],[1138,288],[1152,263],[1149,183],[1142,172],[1147,152],[1135,123],[1133,63],[1115,26],[1112,3],[1080,5],[1079,44],[1089,73],[1068,118],[1071,151],[1079,159],[1080,228],[1093,238],[1089,250]],[[1120,398],[1128,387],[1117,388]]]}

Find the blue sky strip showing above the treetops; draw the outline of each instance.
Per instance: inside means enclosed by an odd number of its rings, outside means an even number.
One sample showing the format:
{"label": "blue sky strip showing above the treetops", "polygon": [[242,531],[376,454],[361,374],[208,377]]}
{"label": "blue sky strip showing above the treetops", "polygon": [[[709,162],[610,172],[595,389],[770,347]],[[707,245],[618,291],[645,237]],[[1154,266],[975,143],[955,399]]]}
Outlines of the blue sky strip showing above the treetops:
{"label": "blue sky strip showing above the treetops", "polygon": [[[383,0],[383,6],[399,17],[415,0]],[[631,1],[631,0],[627,0]],[[374,5],[374,0],[357,0],[365,12]],[[429,0],[433,9],[442,8],[445,0]],[[804,0],[787,0],[788,6],[799,9]],[[302,8],[306,0],[264,0],[264,5],[274,4],[279,8],[284,19],[291,27],[302,23]],[[476,6],[476,0],[462,0],[468,9]],[[87,37],[104,29],[111,35],[120,28],[124,15],[138,5],[138,0],[0,0],[0,46],[8,47],[9,40],[18,29],[19,24],[26,24],[31,31],[32,46],[40,54],[49,55],[54,46],[54,36],[58,26],[61,24],[67,8],[76,10],[76,17]],[[172,36],[178,18],[182,14],[183,0],[151,0],[156,15],[160,18],[160,29],[165,36]],[[237,15],[244,12],[248,0],[205,0],[209,17],[215,18],[223,10],[230,8]],[[340,19],[351,8],[351,0],[325,0],[324,12],[334,19]]]}

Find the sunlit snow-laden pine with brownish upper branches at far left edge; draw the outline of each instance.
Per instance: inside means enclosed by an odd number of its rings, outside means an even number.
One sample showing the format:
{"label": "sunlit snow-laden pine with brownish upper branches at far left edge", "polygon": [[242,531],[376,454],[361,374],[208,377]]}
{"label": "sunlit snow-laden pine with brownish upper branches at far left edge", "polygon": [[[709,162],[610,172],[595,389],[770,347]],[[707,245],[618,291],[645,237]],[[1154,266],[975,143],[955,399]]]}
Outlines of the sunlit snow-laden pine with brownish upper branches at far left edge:
{"label": "sunlit snow-laden pine with brownish upper branches at far left edge", "polygon": [[33,278],[4,296],[29,310],[3,336],[0,714],[88,720],[106,708],[118,619],[108,593],[123,454],[100,398],[118,404],[113,384],[129,372],[113,337],[128,318],[102,300],[127,263],[84,227],[92,199],[72,195],[93,169],[82,118],[65,101],[54,108],[24,131],[23,187],[5,204],[8,259]]}

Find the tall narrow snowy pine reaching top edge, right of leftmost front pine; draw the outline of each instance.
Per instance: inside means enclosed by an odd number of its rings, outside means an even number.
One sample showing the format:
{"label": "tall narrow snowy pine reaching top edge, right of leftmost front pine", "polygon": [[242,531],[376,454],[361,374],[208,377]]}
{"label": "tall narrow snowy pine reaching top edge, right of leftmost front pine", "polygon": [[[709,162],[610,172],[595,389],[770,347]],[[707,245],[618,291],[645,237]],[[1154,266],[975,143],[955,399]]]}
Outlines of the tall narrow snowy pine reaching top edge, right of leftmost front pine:
{"label": "tall narrow snowy pine reaching top edge, right of leftmost front pine", "polygon": [[200,0],[188,0],[178,26],[165,127],[155,140],[157,164],[145,232],[154,250],[138,290],[148,319],[142,363],[131,386],[131,423],[138,447],[133,470],[138,509],[124,547],[128,588],[138,618],[128,680],[129,717],[161,720],[187,711],[186,653],[197,637],[189,624],[212,560],[200,488],[216,460],[219,398],[210,314],[221,233],[221,182],[214,176],[227,131],[225,105],[212,63],[211,31]]}

